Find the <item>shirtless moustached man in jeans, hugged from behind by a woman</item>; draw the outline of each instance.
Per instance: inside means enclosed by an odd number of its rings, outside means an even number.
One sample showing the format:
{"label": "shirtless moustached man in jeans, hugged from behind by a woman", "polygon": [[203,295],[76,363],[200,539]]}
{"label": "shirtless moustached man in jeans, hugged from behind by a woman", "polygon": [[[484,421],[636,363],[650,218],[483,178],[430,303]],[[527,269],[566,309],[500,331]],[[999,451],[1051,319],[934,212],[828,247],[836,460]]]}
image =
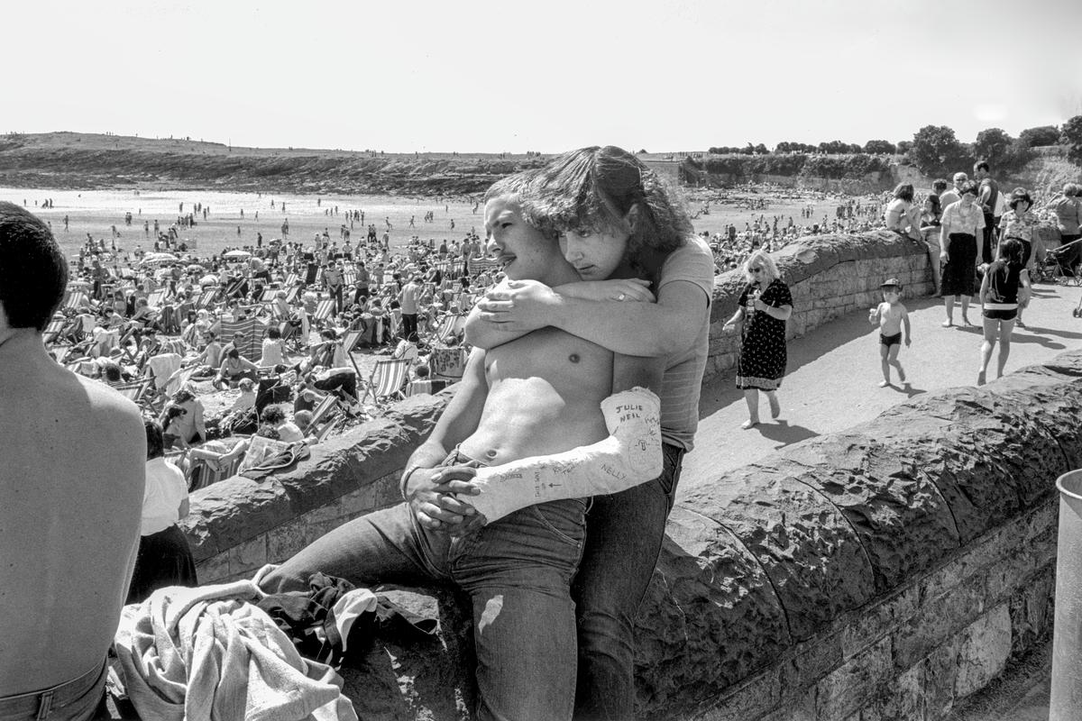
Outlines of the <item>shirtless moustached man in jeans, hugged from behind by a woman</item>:
{"label": "shirtless moustached man in jeans, hugged from behind by a woman", "polygon": [[[485,225],[490,254],[510,278],[551,284],[577,280],[556,238],[528,225],[516,196],[502,190],[514,188],[514,182],[489,191]],[[456,583],[473,602],[478,718],[570,719],[576,682],[570,583],[582,553],[586,504],[582,497],[538,503],[535,493],[572,483],[564,471],[622,432],[623,427],[613,429],[611,405],[606,414],[599,410],[603,401],[611,403],[615,374],[620,389],[656,386],[660,373],[660,364],[615,361],[601,346],[552,328],[488,352],[475,350],[454,399],[410,457],[403,477],[408,503],[331,531],[268,574],[262,587],[269,592],[304,589],[317,571],[358,585]],[[638,396],[631,405],[652,396],[634,392]],[[637,469],[638,481],[652,479],[661,467],[656,397],[652,403],[652,439],[641,436],[643,446],[636,441],[636,448],[622,454],[631,457],[649,448],[650,463]],[[593,450],[578,450],[586,444],[594,444]],[[547,462],[551,454],[557,454],[555,463]],[[595,465],[589,480],[604,483],[613,472],[635,472],[616,455]],[[531,456],[545,460],[531,466]],[[477,478],[464,480],[474,469]],[[502,518],[492,513],[487,525],[466,533],[471,521],[491,513],[486,493],[509,477],[514,478],[502,488],[520,491],[519,509]],[[475,483],[485,489],[479,495],[473,495]],[[593,492],[580,489],[577,495]],[[471,494],[473,506],[457,493]]]}

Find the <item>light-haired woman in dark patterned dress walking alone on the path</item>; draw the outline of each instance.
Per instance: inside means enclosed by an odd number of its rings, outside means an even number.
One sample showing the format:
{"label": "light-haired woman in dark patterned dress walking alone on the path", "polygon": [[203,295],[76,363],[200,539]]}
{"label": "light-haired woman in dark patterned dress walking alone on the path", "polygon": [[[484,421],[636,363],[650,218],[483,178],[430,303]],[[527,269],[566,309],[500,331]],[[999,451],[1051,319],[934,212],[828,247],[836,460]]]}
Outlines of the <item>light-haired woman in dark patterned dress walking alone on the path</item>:
{"label": "light-haired woman in dark patterned dress walking alone on the path", "polygon": [[740,426],[747,429],[758,425],[761,390],[770,403],[770,417],[781,415],[778,388],[786,374],[786,321],[793,312],[793,296],[765,251],[752,253],[744,263],[744,276],[748,285],[725,329],[741,325],[737,388],[743,389],[748,403],[748,419]]}

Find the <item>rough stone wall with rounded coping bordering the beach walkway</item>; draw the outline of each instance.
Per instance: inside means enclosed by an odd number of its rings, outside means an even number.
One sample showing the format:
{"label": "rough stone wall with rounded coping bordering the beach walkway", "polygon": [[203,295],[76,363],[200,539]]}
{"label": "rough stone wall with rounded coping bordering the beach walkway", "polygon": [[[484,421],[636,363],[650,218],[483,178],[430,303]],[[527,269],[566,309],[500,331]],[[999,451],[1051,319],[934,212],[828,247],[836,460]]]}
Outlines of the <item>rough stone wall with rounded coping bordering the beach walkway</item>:
{"label": "rough stone wall with rounded coping bordering the beach walkway", "polygon": [[[873,305],[887,277],[907,294],[931,290],[923,245],[895,233],[820,236],[775,257],[793,290],[792,335]],[[740,288],[736,273],[717,279],[709,375],[735,362],[721,325]],[[689,493],[636,629],[639,713],[944,718],[1051,625],[1054,481],[1082,467],[1079,376],[1082,355],[1065,355],[980,389],[923,395]],[[289,472],[195,493],[186,530],[200,580],[250,576],[395,503],[449,398],[399,403]],[[438,613],[440,639],[377,639],[343,669],[358,712],[461,718],[473,697],[461,598],[398,597]]]}

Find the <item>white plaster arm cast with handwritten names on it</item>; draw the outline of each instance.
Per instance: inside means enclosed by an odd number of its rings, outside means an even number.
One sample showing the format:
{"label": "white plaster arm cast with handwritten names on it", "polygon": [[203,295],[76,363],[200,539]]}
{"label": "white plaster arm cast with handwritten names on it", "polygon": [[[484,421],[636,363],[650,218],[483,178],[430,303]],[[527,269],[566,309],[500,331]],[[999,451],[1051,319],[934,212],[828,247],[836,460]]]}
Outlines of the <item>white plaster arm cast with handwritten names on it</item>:
{"label": "white plaster arm cast with handwritten names on it", "polygon": [[550,500],[619,493],[661,475],[661,401],[635,387],[602,401],[609,437],[571,451],[477,469],[462,498],[488,523]]}

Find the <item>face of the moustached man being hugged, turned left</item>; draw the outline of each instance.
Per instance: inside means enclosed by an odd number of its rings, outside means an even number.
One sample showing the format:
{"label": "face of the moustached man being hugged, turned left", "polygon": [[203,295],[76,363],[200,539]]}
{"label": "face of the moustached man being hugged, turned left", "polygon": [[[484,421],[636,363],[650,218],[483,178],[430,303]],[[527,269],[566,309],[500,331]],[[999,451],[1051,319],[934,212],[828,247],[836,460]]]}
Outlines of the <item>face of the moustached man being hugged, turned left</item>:
{"label": "face of the moustached man being hugged, turned left", "polygon": [[553,264],[564,263],[555,239],[526,222],[514,196],[485,203],[485,236],[488,254],[511,280],[543,280]]}

